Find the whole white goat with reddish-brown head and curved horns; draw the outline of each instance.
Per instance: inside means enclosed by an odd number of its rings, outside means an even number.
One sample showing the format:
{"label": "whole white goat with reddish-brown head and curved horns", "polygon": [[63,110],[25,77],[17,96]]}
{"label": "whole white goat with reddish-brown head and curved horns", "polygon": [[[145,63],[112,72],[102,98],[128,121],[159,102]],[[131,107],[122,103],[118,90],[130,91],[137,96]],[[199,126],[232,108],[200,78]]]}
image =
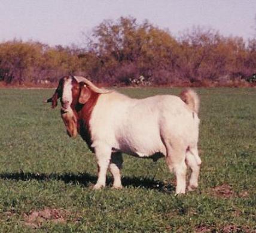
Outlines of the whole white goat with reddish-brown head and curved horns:
{"label": "whole white goat with reddish-brown head and curved horns", "polygon": [[114,178],[113,187],[122,188],[121,153],[154,160],[165,157],[176,176],[176,194],[185,193],[187,166],[192,170],[188,190],[198,186],[199,97],[193,90],[186,89],[180,97],[139,100],[98,88],[84,77],[67,76],[47,102],[54,108],[58,98],[68,135],[79,133],[96,155],[95,189],[105,187],[107,169]]}

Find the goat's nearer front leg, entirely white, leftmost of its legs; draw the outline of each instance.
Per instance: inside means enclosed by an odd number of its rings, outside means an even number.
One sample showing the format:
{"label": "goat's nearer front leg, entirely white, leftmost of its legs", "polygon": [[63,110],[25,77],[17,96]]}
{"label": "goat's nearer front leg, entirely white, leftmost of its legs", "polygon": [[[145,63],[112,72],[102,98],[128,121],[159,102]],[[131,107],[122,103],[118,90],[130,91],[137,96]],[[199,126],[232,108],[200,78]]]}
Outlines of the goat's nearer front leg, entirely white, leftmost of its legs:
{"label": "goat's nearer front leg, entirely white, leftmost of its legs", "polygon": [[108,145],[97,145],[95,147],[95,154],[97,160],[97,183],[94,189],[100,189],[106,185],[106,171],[111,159],[111,148]]}

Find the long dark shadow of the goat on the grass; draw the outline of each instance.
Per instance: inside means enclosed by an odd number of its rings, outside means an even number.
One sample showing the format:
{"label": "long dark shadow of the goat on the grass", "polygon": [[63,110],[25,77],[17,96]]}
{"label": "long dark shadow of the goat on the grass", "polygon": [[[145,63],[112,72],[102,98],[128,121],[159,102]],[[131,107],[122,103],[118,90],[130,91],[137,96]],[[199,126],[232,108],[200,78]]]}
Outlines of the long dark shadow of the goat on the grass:
{"label": "long dark shadow of the goat on the grass", "polygon": [[[36,181],[63,181],[66,184],[83,185],[85,187],[90,187],[92,184],[96,184],[97,177],[91,175],[90,173],[31,173],[31,172],[14,172],[14,173],[1,173],[0,179],[14,180],[14,181],[31,181],[35,179]],[[147,177],[129,177],[124,176],[122,179],[122,184],[124,187],[133,188],[146,188],[154,189],[160,192],[172,192],[175,188],[171,184],[164,184],[162,181],[157,181],[154,178]],[[112,178],[107,176],[106,185],[112,185]]]}

